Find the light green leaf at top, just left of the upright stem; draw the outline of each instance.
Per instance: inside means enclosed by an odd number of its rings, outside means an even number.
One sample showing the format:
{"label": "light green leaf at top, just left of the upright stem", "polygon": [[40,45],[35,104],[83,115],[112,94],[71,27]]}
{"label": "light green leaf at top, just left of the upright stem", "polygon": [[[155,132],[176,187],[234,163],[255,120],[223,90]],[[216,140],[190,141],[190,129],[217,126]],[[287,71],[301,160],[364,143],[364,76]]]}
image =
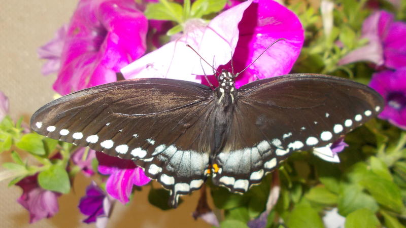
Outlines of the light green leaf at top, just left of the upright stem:
{"label": "light green leaf at top, just left of the upright stem", "polygon": [[182,6],[177,3],[162,1],[157,4],[149,4],[144,14],[148,19],[168,20],[182,23]]}

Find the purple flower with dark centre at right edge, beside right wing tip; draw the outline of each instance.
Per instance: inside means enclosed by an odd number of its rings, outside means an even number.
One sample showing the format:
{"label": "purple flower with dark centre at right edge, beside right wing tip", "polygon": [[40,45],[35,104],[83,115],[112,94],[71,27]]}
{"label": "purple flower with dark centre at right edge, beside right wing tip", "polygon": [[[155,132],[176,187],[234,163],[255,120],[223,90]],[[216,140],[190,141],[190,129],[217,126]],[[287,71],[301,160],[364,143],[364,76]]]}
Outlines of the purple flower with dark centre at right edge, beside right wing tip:
{"label": "purple flower with dark centre at right edge, beside right wing tip", "polygon": [[369,86],[385,99],[378,117],[406,130],[406,66],[374,73]]}

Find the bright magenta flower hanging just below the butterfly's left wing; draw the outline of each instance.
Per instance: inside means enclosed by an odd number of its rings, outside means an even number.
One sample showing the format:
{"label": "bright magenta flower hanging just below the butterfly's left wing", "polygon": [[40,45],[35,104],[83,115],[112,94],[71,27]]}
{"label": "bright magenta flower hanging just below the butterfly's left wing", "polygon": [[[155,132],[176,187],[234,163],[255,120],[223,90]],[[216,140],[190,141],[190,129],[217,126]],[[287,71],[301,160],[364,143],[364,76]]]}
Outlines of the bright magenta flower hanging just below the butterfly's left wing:
{"label": "bright magenta flower hanging just below the butterfly's left wing", "polygon": [[142,186],[151,181],[143,169],[131,160],[108,156],[101,152],[96,153],[96,158],[99,162],[98,171],[110,175],[106,181],[107,193],[123,204],[129,201],[132,185]]}

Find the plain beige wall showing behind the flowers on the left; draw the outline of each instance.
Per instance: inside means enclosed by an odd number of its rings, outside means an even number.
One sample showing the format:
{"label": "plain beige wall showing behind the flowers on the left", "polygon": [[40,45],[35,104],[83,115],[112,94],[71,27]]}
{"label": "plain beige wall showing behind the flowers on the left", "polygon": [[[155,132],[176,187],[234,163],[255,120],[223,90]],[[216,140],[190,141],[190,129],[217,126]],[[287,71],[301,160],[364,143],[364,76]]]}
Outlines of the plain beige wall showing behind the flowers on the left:
{"label": "plain beige wall showing behind the flowers on the left", "polygon": [[[69,22],[78,0],[0,0],[0,90],[10,100],[10,114],[14,119],[23,115],[25,121],[40,106],[52,100],[51,85],[55,75],[41,74],[43,61],[37,48],[48,42],[55,31]],[[1,162],[9,160],[9,153],[0,155]],[[2,169],[2,168],[1,168]],[[28,225],[28,212],[16,200],[22,191],[0,182],[0,227],[92,227],[81,222],[85,217],[77,208],[90,179],[79,175],[74,182],[75,192],[59,198],[59,213]],[[134,196],[130,205],[116,203],[109,227],[208,227],[194,221],[191,213],[198,193],[186,196],[176,210],[163,212],[149,205],[149,186]]]}

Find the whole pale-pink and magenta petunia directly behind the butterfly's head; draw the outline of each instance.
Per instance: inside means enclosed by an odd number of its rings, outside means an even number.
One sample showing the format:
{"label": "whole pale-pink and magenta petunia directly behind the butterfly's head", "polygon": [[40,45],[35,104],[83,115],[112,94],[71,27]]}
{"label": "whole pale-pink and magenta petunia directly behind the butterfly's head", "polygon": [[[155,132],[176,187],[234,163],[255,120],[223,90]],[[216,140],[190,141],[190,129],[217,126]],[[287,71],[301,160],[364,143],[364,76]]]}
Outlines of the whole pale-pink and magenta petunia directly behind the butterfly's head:
{"label": "whole pale-pink and magenta petunia directly behind the butterfly's head", "polygon": [[[212,74],[206,63],[189,48],[189,44],[215,66],[230,67],[231,53],[236,72],[251,63],[268,45],[274,45],[237,79],[236,85],[286,74],[299,55],[303,28],[286,7],[274,1],[247,1],[215,17],[209,24],[199,19],[185,23],[185,32],[175,41],[153,51],[121,69],[125,78],[173,78],[202,82],[196,75]],[[202,70],[202,68],[204,70]],[[221,67],[224,68],[224,67]]]}

